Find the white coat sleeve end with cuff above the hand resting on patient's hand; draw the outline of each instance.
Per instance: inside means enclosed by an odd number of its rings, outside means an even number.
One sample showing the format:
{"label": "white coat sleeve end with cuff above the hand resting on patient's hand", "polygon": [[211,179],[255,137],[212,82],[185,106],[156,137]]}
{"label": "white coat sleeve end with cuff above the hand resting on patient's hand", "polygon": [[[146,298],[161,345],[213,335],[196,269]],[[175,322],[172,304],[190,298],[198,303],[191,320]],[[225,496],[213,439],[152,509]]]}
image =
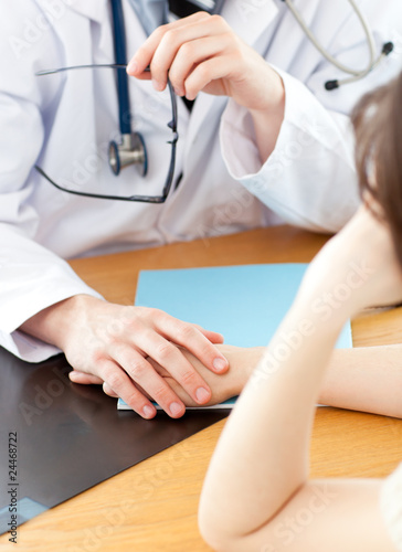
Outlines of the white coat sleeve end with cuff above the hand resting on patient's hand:
{"label": "white coat sleeve end with cuff above the hand resting on patient's hand", "polygon": [[[12,201],[9,197],[2,204],[11,206]],[[18,328],[44,308],[74,295],[100,296],[67,263],[12,224],[0,223],[0,346],[23,360],[40,362],[61,351]]]}

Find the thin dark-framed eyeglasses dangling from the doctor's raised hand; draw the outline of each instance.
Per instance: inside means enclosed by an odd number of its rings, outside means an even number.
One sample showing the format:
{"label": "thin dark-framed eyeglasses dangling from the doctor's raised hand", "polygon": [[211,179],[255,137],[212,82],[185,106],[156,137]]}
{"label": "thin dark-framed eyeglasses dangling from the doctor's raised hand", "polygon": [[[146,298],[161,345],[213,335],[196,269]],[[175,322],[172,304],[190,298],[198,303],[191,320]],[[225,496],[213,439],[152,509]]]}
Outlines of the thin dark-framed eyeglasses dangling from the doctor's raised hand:
{"label": "thin dark-framed eyeglasses dangling from the doctor's raised hand", "polygon": [[[54,70],[45,70],[45,71],[40,71],[35,73],[36,76],[45,76],[45,75],[53,75],[55,73],[62,73],[65,71],[73,71],[73,70],[87,70],[87,68],[115,68],[117,71],[126,71],[126,65],[124,64],[95,64],[95,65],[74,65],[70,67],[60,67],[60,68],[54,68]],[[146,71],[149,71],[147,68]],[[161,195],[112,195],[112,194],[102,194],[102,193],[89,193],[89,192],[83,192],[83,191],[77,191],[77,190],[68,190],[67,188],[64,188],[63,185],[56,183],[46,172],[35,164],[36,171],[47,180],[52,185],[57,188],[57,190],[61,190],[63,192],[72,193],[74,195],[83,195],[86,198],[97,198],[97,199],[103,199],[103,200],[117,200],[117,201],[137,201],[137,202],[142,202],[142,203],[165,203],[167,197],[169,195],[169,191],[171,189],[171,184],[173,181],[173,176],[174,176],[174,164],[176,164],[176,148],[177,148],[177,141],[179,139],[179,134],[177,130],[177,125],[178,125],[178,113],[177,113],[177,98],[176,94],[173,91],[173,87],[168,79],[168,88],[169,88],[169,95],[170,95],[170,103],[171,103],[171,113],[172,113],[172,119],[170,123],[168,123],[168,128],[171,130],[171,139],[167,141],[167,144],[170,144],[171,150],[170,150],[170,162],[169,162],[169,169],[167,172],[166,181],[163,184],[162,193]],[[139,135],[134,135],[135,137],[138,137]],[[141,137],[139,137],[141,138]],[[110,142],[110,148],[115,148],[116,144]],[[115,172],[116,173],[116,172]]]}

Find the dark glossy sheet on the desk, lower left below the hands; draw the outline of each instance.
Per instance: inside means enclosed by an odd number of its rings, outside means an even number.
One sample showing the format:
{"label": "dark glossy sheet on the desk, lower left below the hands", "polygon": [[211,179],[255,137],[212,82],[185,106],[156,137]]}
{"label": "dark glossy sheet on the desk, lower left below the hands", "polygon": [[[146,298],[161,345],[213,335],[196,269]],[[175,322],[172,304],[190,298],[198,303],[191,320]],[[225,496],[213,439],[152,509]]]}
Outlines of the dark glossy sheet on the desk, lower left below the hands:
{"label": "dark glossy sheet on the desk, lower left below the hands", "polygon": [[189,411],[145,421],[117,411],[100,386],[72,383],[70,370],[62,355],[30,364],[0,348],[0,534],[11,529],[15,500],[21,524],[228,415]]}

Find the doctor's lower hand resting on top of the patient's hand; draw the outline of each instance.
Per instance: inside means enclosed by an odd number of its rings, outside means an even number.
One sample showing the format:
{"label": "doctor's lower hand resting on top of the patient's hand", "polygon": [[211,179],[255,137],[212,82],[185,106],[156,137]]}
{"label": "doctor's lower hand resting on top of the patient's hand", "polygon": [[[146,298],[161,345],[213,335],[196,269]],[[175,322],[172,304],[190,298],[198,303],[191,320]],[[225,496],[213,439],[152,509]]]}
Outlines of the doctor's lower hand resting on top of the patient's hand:
{"label": "doctor's lower hand resting on top of the patient's hand", "polygon": [[171,381],[197,404],[211,397],[211,390],[183,350],[215,373],[228,370],[228,360],[213,343],[222,336],[145,307],[114,305],[78,295],[42,310],[21,330],[64,351],[74,369],[72,381],[104,382],[105,391],[120,396],[140,416],[151,418],[152,397],[171,417],[186,408],[179,395],[147,360],[163,367]]}

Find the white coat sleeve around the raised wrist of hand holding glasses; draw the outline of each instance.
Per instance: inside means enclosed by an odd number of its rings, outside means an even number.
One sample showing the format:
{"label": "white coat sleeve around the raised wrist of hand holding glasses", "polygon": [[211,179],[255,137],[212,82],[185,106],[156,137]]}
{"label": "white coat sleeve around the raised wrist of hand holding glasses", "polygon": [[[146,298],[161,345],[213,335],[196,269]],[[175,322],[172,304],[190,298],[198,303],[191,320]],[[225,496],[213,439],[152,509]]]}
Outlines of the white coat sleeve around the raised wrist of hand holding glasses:
{"label": "white coat sleeve around the raised wrist of hand holding glasses", "polygon": [[232,99],[221,123],[231,176],[285,222],[337,232],[359,204],[349,117],[327,110],[298,79],[284,82],[285,118],[273,153],[262,164],[251,115]]}

